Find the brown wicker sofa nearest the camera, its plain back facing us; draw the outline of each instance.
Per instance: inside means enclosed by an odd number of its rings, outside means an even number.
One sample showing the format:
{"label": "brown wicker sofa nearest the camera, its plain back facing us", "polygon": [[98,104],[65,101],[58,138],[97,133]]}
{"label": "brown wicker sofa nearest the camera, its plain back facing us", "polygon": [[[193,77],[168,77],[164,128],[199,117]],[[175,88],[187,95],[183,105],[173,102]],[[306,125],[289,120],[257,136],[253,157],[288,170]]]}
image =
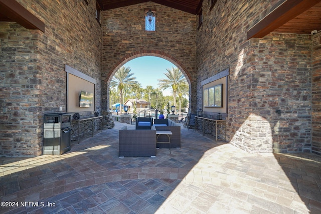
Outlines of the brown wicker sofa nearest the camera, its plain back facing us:
{"label": "brown wicker sofa nearest the camera, its plain back facing us", "polygon": [[119,157],[156,156],[156,130],[119,130]]}

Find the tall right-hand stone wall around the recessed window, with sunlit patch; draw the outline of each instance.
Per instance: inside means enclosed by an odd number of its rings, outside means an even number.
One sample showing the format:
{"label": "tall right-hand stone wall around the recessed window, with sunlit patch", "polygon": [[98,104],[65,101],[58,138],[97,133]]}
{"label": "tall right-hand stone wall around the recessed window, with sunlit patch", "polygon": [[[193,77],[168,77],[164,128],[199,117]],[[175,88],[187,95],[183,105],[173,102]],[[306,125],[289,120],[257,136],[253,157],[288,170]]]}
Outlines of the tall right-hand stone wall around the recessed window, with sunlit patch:
{"label": "tall right-hand stone wall around the recessed window, with sunlit patch", "polygon": [[246,39],[247,30],[281,2],[218,1],[211,11],[203,2],[197,109],[201,81],[229,68],[228,141],[249,152],[311,149],[311,36]]}

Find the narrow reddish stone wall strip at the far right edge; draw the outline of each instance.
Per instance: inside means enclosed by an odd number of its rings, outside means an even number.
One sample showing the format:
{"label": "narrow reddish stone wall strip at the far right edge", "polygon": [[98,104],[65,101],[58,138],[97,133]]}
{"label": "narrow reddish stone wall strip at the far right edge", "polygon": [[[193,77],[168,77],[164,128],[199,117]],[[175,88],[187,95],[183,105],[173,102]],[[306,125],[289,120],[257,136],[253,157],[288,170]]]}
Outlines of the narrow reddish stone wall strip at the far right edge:
{"label": "narrow reddish stone wall strip at the far right edge", "polygon": [[321,155],[321,33],[312,39],[312,152]]}

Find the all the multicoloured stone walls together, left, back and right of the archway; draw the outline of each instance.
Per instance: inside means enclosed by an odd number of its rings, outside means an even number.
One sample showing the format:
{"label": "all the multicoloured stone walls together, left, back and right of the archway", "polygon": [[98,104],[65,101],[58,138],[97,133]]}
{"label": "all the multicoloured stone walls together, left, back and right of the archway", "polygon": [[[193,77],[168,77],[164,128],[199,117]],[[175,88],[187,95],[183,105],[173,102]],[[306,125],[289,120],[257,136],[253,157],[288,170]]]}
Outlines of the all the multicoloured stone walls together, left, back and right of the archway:
{"label": "all the multicoloured stone walls together, left, back and right of the archway", "polygon": [[[106,11],[102,25],[95,1],[17,2],[46,29],[0,23],[0,106],[7,108],[0,115],[0,156],[42,154],[43,115],[60,106],[66,111],[65,64],[97,80],[96,110],[108,116],[111,77],[140,56],[163,57],[182,70],[193,112],[202,106],[201,81],[229,68],[231,144],[249,152],[320,154],[320,34],[246,40],[247,30],[284,0],[218,1],[211,11],[203,1],[199,29],[196,16],[151,2]],[[155,32],[144,30],[149,9]]]}

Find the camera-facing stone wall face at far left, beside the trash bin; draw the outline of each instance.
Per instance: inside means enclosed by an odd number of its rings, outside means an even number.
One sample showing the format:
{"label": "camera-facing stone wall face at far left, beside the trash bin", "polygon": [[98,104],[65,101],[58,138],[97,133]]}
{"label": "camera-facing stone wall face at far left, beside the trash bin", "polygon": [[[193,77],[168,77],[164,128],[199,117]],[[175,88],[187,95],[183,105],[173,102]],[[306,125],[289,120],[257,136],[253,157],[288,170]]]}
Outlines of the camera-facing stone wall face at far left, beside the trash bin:
{"label": "camera-facing stone wall face at far left, beside the trash bin", "polygon": [[44,110],[38,71],[39,35],[18,24],[0,23],[1,72],[0,156],[41,154],[42,118]]}

